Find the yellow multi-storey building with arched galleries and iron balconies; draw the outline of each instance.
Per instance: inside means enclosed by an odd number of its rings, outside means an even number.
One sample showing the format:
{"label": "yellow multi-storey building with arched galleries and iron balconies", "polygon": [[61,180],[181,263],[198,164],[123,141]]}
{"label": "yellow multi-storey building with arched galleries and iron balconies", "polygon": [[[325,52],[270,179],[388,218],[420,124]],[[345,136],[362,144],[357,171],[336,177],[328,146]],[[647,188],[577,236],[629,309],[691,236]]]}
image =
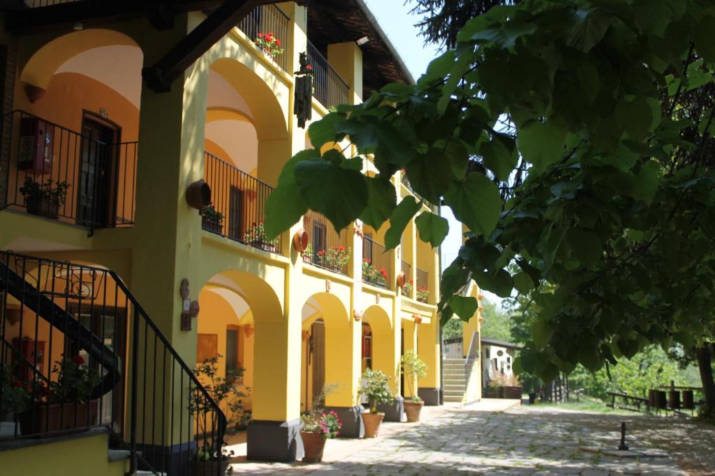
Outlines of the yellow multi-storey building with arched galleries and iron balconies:
{"label": "yellow multi-storey building with arched galleries and iron balconies", "polygon": [[[283,164],[310,147],[310,121],[296,116],[300,55],[312,121],[413,81],[363,0],[18,3],[0,32],[0,368],[9,383],[51,386],[53,364],[79,353],[102,385],[94,407],[42,400],[26,431],[0,412],[0,472],[189,474],[232,420],[192,406],[207,384],[192,370],[217,355],[220,375],[245,368],[252,459],[302,455],[300,412],[325,384],[337,385],[325,405],[342,415],[341,436],[362,435],[368,366],[391,377],[388,419],[400,419],[405,388],[440,403],[438,253],[414,223],[387,252],[386,227],[337,233],[313,212],[276,240],[262,233]],[[393,184],[412,193],[400,173]],[[209,188],[201,216],[189,202]],[[412,386],[399,370],[410,349],[429,367]],[[63,412],[109,433],[41,440],[64,460],[18,444],[66,429]],[[2,450],[9,440],[20,449]],[[109,462],[73,466],[72,452],[103,442]]]}

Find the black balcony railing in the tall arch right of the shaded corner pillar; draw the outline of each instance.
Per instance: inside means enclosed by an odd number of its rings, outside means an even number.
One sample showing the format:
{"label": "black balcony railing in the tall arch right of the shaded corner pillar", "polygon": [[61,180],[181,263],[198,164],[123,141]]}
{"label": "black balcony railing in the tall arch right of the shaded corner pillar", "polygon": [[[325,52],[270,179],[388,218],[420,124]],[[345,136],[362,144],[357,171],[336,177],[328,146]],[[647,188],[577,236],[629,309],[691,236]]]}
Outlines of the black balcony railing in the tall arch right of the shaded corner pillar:
{"label": "black balcony railing in the tall arch right of the shaded corner pillar", "polygon": [[204,213],[204,230],[280,253],[280,236],[268,240],[263,231],[271,186],[208,152],[204,152],[204,180],[211,187],[214,212]]}

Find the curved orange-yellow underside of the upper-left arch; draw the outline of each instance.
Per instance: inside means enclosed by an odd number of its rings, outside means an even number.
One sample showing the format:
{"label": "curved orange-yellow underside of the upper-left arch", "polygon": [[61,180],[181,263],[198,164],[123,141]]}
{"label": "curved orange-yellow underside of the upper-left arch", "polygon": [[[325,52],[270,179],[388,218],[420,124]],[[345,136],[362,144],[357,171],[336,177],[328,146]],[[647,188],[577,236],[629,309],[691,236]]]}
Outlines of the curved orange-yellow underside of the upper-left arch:
{"label": "curved orange-yellow underside of the upper-left arch", "polygon": [[32,54],[20,74],[20,81],[46,89],[59,67],[73,56],[102,46],[136,46],[134,39],[109,29],[73,31],[53,39]]}

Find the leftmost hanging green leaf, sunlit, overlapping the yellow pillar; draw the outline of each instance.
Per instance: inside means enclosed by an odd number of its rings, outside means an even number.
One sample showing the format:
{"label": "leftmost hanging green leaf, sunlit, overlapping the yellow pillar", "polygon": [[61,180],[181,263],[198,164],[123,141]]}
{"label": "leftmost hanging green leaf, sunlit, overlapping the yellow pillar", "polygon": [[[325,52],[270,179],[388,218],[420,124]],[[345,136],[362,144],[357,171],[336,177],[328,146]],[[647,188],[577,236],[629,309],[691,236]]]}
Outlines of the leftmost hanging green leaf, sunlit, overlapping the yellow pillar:
{"label": "leftmost hanging green leaf, sunlit, overlapping the yellow pillar", "polygon": [[302,161],[320,161],[320,152],[315,149],[299,152],[283,166],[278,186],[266,200],[264,229],[269,239],[295,225],[308,209],[295,181],[295,166]]}

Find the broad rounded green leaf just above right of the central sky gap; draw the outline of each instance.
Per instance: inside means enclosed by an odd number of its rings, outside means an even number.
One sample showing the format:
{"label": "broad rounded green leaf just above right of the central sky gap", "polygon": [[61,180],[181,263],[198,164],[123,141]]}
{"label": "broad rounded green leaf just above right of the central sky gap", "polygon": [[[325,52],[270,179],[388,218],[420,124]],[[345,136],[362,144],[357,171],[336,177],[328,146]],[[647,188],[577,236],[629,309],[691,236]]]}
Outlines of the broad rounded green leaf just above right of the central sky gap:
{"label": "broad rounded green leaf just above right of the central sky gap", "polygon": [[501,213],[499,189],[481,173],[470,173],[464,181],[453,183],[445,202],[471,231],[485,236],[494,231]]}

